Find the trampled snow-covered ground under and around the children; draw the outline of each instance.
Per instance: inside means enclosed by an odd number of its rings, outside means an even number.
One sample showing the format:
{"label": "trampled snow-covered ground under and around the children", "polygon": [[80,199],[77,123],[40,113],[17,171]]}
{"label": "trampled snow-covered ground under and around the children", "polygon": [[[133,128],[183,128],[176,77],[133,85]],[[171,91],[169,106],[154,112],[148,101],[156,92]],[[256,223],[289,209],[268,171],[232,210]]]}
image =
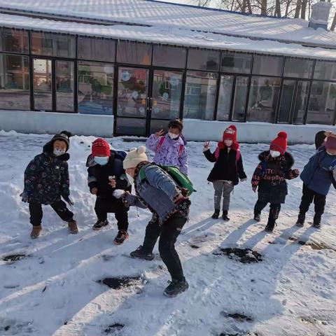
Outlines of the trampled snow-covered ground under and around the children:
{"label": "trampled snow-covered ground under and around the children", "polygon": [[[149,211],[130,211],[130,239],[122,246],[112,242],[116,235],[112,214],[108,228],[91,230],[96,218],[85,160],[93,137],[71,138],[71,195],[80,233],[69,235],[52,209],[44,207],[43,235],[30,239],[28,207],[19,197],[23,171],[48,139],[0,132],[1,336],[336,335],[335,190],[327,197],[320,231],[308,224],[295,226],[300,179],[289,182],[287,202],[272,234],[262,230],[266,209],[261,223],[251,220],[256,195],[249,182],[235,188],[231,221],[213,220],[213,188],[206,181],[212,164],[203,157],[202,144],[190,142],[190,176],[197,193],[192,196],[190,221],[176,244],[190,288],[169,299],[162,295],[169,274],[160,257],[152,262],[128,257],[144,238]],[[140,144],[110,140],[113,147],[124,150]],[[211,146],[214,149],[215,143]],[[265,148],[241,146],[249,179]],[[314,146],[291,146],[289,151],[302,169]],[[263,261],[248,264],[214,254],[228,247],[251,248]],[[3,261],[20,253],[27,258]],[[97,282],[117,276],[141,279],[119,290]]]}

